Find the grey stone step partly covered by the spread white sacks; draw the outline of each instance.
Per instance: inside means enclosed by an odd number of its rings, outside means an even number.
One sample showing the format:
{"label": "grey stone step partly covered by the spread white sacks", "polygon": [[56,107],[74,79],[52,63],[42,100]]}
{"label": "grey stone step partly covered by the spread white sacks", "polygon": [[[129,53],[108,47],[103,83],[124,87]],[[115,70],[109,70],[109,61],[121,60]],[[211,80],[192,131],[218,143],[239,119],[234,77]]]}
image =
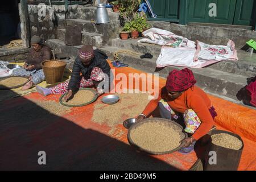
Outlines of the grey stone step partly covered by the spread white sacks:
{"label": "grey stone step partly covered by the spread white sacks", "polygon": [[[138,39],[121,40],[119,38],[112,40],[113,47],[125,48],[142,53],[151,53],[158,57],[161,52],[161,46],[138,43]],[[237,51],[239,61],[221,61],[219,63],[209,65],[209,68],[218,69],[223,72],[234,73],[236,75],[243,75],[247,77],[254,77],[256,73],[256,54],[251,55],[248,52]]]}

